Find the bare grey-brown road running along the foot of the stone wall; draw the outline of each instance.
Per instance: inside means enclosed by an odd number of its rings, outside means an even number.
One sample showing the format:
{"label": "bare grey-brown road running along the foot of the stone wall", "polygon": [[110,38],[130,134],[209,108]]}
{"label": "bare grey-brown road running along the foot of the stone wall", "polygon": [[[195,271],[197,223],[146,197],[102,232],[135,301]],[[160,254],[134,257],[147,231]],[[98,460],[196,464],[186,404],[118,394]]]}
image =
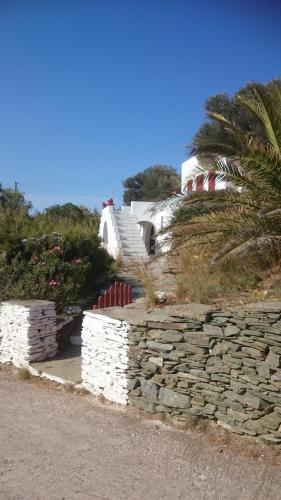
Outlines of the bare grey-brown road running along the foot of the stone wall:
{"label": "bare grey-brown road running along the foot of the stone wall", "polygon": [[1,500],[277,500],[280,467],[0,371]]}

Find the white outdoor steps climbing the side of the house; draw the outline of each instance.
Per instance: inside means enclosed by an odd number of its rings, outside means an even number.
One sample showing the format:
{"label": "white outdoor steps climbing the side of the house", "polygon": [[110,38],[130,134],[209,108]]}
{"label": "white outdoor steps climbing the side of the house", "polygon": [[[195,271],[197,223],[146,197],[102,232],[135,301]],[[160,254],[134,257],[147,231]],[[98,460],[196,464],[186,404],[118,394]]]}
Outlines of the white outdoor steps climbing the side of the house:
{"label": "white outdoor steps climbing the side of the house", "polygon": [[115,211],[114,215],[124,260],[147,259],[148,253],[136,217],[121,211]]}

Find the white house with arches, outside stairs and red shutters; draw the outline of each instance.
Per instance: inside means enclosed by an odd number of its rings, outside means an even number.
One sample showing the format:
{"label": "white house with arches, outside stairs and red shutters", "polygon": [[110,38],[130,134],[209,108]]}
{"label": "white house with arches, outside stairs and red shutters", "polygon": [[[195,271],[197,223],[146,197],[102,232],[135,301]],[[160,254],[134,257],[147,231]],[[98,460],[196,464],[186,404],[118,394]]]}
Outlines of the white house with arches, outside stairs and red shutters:
{"label": "white house with arches, outside stairs and red shutters", "polygon": [[[181,191],[213,191],[224,188],[216,176],[198,173],[199,162],[196,156],[182,164]],[[154,213],[154,202],[132,201],[129,206],[115,208],[113,200],[103,204],[99,235],[103,246],[114,258],[123,259],[149,258],[150,255],[163,253],[169,244],[159,231],[171,218],[171,209]],[[166,240],[166,241],[165,241]]]}

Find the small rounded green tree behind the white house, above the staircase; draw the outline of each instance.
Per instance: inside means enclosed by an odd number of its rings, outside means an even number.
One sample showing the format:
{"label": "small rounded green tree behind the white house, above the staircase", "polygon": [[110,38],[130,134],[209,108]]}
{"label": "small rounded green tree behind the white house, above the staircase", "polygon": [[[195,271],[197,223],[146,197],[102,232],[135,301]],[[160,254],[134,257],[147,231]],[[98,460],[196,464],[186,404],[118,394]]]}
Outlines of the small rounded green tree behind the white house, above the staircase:
{"label": "small rounded green tree behind the white house, above the staircase", "polygon": [[123,186],[126,205],[131,201],[160,201],[180,190],[180,176],[173,167],[154,165],[125,179]]}

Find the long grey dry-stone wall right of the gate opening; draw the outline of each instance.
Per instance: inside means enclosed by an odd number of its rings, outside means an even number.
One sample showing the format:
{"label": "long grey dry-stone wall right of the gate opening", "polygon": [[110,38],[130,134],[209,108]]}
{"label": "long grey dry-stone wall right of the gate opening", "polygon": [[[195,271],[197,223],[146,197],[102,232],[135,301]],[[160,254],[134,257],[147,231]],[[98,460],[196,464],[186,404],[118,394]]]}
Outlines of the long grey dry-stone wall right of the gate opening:
{"label": "long grey dry-stone wall right of the gate opening", "polygon": [[[238,434],[281,441],[281,303],[227,311],[192,304],[149,313],[113,308],[99,311],[94,322],[98,316],[103,326],[93,334],[97,344],[113,332],[119,332],[122,345],[129,344],[127,366],[126,357],[122,364],[123,404],[171,421],[202,416]],[[109,351],[120,352],[108,340]],[[109,351],[102,360],[107,375],[115,370]],[[90,362],[89,349],[87,356]],[[93,369],[94,379],[97,373]],[[106,396],[102,384],[98,392]]]}

